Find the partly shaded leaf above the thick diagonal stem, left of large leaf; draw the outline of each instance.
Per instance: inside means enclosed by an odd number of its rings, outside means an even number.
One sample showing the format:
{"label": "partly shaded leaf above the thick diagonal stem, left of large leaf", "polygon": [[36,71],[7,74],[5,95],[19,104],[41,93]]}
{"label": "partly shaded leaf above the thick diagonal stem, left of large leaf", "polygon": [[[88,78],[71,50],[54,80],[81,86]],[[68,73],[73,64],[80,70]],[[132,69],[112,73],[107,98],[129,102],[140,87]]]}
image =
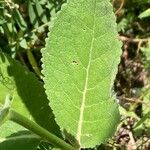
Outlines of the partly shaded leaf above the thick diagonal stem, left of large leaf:
{"label": "partly shaded leaf above the thick diagonal stem, left of large leaf", "polygon": [[42,83],[26,67],[1,52],[0,89],[0,103],[4,103],[6,95],[10,94],[13,109],[30,119],[33,117],[52,133],[60,134]]}

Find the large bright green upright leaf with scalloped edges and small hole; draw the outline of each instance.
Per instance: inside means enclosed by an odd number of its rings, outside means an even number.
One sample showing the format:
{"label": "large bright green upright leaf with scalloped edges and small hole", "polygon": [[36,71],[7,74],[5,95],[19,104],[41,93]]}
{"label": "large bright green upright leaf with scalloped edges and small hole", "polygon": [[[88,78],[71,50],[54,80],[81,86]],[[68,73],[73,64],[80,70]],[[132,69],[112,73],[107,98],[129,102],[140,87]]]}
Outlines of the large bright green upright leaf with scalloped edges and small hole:
{"label": "large bright green upright leaf with scalloped edges and small hole", "polygon": [[111,137],[119,120],[113,83],[120,61],[109,0],[70,0],[50,29],[43,53],[46,93],[61,130],[81,148]]}

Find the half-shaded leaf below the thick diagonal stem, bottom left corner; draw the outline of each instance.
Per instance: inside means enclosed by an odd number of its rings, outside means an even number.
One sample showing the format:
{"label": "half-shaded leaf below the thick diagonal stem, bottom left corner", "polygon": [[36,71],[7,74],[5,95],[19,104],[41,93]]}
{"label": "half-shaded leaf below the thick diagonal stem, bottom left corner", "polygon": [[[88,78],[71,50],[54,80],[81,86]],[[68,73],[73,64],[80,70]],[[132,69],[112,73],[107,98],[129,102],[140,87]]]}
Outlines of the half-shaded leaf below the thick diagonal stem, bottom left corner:
{"label": "half-shaded leaf below the thick diagonal stem, bottom left corner", "polygon": [[1,150],[36,150],[40,138],[11,121],[0,127]]}

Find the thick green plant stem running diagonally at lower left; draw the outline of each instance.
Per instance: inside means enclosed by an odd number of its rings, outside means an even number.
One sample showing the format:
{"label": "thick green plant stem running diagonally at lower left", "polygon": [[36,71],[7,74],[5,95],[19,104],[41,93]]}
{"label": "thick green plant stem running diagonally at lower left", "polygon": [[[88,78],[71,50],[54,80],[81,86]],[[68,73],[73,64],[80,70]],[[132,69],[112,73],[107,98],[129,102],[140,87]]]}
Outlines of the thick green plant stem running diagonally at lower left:
{"label": "thick green plant stem running diagonally at lower left", "polygon": [[53,146],[59,147],[62,150],[77,150],[76,148],[72,147],[70,144],[66,143],[62,139],[48,132],[46,129],[42,128],[41,126],[32,122],[31,120],[27,119],[21,114],[15,112],[14,110],[10,110],[9,119],[29,129],[33,133],[39,135],[41,138],[50,142]]}

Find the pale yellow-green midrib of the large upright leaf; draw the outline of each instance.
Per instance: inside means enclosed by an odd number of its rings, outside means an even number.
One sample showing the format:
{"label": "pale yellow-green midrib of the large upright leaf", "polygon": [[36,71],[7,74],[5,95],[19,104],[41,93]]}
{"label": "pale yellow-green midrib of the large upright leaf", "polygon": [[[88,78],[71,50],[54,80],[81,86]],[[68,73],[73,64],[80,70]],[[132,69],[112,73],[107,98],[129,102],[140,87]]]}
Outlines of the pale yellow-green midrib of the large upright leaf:
{"label": "pale yellow-green midrib of the large upright leaf", "polygon": [[83,119],[84,119],[84,109],[85,109],[85,99],[86,99],[86,93],[88,90],[88,80],[89,80],[89,70],[90,70],[90,65],[91,65],[91,60],[92,60],[92,52],[93,52],[93,45],[94,45],[94,40],[95,40],[95,17],[96,17],[96,0],[94,1],[94,15],[93,15],[93,29],[92,29],[92,40],[91,40],[91,46],[90,46],[90,53],[89,53],[89,61],[86,69],[86,80],[84,84],[84,90],[83,90],[83,96],[82,96],[82,103],[80,107],[80,116],[79,116],[79,122],[78,122],[78,127],[77,127],[77,134],[76,134],[76,139],[81,145],[81,135],[82,135],[82,126],[83,126]]}

